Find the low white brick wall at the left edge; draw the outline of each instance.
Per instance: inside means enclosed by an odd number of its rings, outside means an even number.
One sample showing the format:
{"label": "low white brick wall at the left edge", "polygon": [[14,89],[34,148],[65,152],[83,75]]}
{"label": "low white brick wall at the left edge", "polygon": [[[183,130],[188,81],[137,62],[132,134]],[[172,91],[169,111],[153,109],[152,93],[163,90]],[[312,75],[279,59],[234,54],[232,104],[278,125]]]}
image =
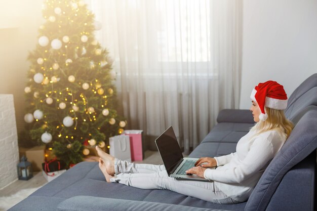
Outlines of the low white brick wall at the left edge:
{"label": "low white brick wall at the left edge", "polygon": [[13,95],[0,94],[0,189],[18,179],[19,148]]}

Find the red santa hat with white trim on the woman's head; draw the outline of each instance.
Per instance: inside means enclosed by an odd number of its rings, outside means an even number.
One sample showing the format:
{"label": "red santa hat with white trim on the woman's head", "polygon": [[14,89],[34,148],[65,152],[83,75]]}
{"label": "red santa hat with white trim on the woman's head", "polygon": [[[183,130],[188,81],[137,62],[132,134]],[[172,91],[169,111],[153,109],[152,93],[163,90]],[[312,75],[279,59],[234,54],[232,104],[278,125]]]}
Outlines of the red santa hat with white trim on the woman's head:
{"label": "red santa hat with white trim on the woman's head", "polygon": [[262,121],[267,119],[264,106],[277,110],[284,110],[287,106],[287,95],[283,86],[272,80],[259,83],[253,89],[250,97],[259,105],[261,109],[259,119]]}

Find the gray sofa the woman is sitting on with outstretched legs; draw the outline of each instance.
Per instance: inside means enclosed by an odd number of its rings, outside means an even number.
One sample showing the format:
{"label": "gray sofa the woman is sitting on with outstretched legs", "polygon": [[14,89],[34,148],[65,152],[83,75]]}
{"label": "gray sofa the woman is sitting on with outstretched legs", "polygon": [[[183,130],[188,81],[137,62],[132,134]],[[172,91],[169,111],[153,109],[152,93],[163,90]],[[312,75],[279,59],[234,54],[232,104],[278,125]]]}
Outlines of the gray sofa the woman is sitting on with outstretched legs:
{"label": "gray sofa the woman is sitting on with outstretched legs", "polygon": [[[10,210],[314,210],[317,74],[293,92],[285,114],[295,128],[247,202],[214,204],[169,190],[106,183],[97,162],[81,162]],[[189,157],[234,152],[237,141],[254,125],[249,110],[222,110],[217,121]]]}

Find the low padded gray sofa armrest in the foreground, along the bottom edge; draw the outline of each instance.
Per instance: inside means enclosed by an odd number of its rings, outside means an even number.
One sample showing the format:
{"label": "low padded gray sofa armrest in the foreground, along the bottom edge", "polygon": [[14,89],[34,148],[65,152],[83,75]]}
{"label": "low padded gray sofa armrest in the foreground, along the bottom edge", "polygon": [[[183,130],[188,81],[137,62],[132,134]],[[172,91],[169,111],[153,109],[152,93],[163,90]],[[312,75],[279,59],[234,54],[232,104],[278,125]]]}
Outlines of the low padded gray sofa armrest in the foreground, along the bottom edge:
{"label": "low padded gray sofa armrest in the foreground, along the bottom edge", "polygon": [[94,196],[74,196],[66,199],[57,206],[58,211],[87,211],[87,210],[143,210],[143,211],[227,211],[223,209],[208,209],[177,204],[166,204],[149,201],[133,201],[125,199],[102,198]]}

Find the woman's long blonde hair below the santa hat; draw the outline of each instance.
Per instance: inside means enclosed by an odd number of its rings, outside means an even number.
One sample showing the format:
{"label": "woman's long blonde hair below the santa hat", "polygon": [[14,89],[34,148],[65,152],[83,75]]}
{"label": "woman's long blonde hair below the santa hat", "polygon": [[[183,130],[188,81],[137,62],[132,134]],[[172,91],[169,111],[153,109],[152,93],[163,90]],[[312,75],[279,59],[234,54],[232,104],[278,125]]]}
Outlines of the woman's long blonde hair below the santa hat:
{"label": "woman's long blonde hair below the santa hat", "polygon": [[277,110],[273,108],[264,107],[265,113],[267,113],[267,119],[265,121],[257,122],[251,130],[256,130],[256,135],[264,133],[270,130],[278,130],[288,138],[293,130],[293,123],[289,121],[285,115],[284,110]]}

